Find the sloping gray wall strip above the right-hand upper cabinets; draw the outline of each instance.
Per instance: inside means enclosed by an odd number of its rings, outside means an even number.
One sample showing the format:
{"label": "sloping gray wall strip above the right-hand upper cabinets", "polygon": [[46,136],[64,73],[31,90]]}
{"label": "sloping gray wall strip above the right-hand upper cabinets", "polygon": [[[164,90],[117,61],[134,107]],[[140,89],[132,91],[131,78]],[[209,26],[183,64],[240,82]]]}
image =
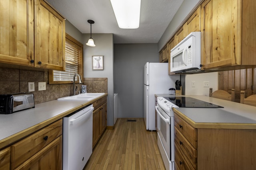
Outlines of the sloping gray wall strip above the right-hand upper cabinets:
{"label": "sloping gray wall strip above the right-hand upper cabinets", "polygon": [[188,18],[188,16],[192,13],[198,4],[200,4],[202,0],[184,0],[176,12],[175,16],[172,18],[172,21],[164,31],[162,37],[158,41],[158,51],[160,51],[164,45],[170,40],[170,38],[174,35],[177,29],[182,25],[184,20]]}

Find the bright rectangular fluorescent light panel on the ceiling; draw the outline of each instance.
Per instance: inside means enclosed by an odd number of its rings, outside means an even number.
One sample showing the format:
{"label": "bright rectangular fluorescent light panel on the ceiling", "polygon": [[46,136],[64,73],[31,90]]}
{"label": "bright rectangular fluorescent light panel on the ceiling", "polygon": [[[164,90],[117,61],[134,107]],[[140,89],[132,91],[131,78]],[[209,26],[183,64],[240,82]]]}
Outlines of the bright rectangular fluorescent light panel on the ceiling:
{"label": "bright rectangular fluorescent light panel on the ceiling", "polygon": [[140,26],[140,0],[110,0],[118,27],[136,29]]}

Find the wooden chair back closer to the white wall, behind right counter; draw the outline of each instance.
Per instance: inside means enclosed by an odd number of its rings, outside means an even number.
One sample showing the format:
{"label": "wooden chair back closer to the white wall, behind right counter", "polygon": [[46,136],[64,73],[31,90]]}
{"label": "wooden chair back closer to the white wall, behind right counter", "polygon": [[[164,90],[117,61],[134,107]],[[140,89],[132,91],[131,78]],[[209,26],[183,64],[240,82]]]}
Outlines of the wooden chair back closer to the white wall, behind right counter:
{"label": "wooden chair back closer to the white wall, behind right counter", "polygon": [[231,94],[224,90],[216,90],[215,92],[212,92],[212,88],[210,88],[209,96],[213,98],[228,100],[228,101],[235,101],[235,89],[233,88],[231,91]]}

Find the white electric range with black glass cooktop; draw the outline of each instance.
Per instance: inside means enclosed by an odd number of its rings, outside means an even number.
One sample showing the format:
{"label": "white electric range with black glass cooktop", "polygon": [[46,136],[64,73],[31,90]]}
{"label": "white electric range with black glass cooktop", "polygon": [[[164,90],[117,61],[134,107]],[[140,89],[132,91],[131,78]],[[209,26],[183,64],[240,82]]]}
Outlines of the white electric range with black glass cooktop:
{"label": "white electric range with black glass cooktop", "polygon": [[190,97],[157,98],[157,143],[166,170],[174,170],[174,107],[222,108]]}

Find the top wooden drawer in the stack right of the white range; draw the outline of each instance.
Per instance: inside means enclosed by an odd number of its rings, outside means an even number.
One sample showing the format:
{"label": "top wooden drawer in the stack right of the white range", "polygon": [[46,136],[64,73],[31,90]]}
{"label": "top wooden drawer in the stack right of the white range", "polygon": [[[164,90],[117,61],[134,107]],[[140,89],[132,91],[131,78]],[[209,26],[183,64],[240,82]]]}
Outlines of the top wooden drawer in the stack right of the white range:
{"label": "top wooden drawer in the stack right of the white range", "polygon": [[192,127],[179,115],[174,113],[174,125],[182,133],[182,135],[197,149],[197,129]]}

